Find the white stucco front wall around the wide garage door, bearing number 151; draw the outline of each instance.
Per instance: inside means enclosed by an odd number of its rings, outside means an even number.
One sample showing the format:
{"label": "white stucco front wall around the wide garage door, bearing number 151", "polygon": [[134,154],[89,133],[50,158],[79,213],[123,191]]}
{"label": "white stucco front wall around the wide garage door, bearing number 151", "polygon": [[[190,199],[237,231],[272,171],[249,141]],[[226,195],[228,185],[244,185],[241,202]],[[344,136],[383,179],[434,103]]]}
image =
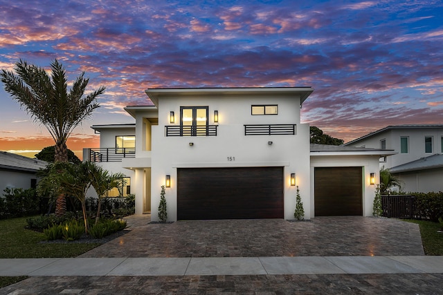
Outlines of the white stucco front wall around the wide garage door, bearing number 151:
{"label": "white stucco front wall around the wide garage door, bearing number 151", "polygon": [[[278,104],[278,115],[251,115],[252,104]],[[168,220],[177,220],[177,168],[185,167],[284,167],[284,218],[293,219],[296,204],[295,187],[289,184],[290,173],[296,173],[300,195],[309,207],[309,126],[300,124],[300,97],[293,95],[179,95],[159,99],[159,125],[152,126],[152,220],[158,219],[161,185],[171,176],[166,189]],[[209,122],[218,111],[217,136],[166,137],[165,126],[170,111],[180,123],[180,106],[208,106]],[[296,135],[244,135],[244,124],[296,124]],[[268,144],[271,141],[273,144]],[[190,142],[193,146],[190,146]],[[228,157],[235,160],[228,161]]]}

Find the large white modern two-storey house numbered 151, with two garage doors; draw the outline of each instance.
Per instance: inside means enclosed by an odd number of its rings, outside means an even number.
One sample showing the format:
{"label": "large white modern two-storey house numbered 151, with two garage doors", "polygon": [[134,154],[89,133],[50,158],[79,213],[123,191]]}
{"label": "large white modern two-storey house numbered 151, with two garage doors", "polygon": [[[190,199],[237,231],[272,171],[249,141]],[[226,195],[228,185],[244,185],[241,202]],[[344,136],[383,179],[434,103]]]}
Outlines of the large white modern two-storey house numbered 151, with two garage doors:
{"label": "large white modern two-storey house numbered 151, with two garage doors", "polygon": [[[306,219],[371,216],[370,175],[378,171],[379,158],[392,151],[311,146],[300,108],[312,91],[147,89],[154,106],[125,108],[136,120],[135,129],[93,126],[100,132],[100,149],[85,149],[84,160],[105,166],[111,164],[105,162],[110,151],[118,154],[118,169],[132,175],[136,213],[151,211],[154,221],[162,185],[170,221],[293,219],[296,187]],[[134,135],[135,154],[123,150]],[[117,136],[127,136],[123,145]]]}

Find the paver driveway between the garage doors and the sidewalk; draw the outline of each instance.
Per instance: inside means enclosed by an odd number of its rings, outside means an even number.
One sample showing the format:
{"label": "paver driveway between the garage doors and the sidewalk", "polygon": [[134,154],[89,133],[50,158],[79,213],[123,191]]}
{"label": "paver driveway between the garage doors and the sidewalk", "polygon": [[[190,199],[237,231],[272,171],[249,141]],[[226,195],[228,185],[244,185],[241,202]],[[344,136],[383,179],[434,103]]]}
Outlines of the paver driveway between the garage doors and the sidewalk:
{"label": "paver driveway between the garage doors and the sidewalk", "polygon": [[424,255],[419,227],[361,216],[312,221],[186,220],[150,224],[131,216],[132,230],[80,257],[259,257]]}

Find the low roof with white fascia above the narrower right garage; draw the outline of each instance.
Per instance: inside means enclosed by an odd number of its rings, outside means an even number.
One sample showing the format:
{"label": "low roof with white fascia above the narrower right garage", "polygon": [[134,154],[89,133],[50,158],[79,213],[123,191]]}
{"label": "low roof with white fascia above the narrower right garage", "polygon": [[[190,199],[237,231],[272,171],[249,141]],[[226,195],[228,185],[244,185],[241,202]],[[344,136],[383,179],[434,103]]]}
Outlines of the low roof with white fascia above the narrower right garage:
{"label": "low roof with white fascia above the narrower right garage", "polygon": [[311,144],[311,155],[395,155],[393,149],[372,149],[357,146]]}

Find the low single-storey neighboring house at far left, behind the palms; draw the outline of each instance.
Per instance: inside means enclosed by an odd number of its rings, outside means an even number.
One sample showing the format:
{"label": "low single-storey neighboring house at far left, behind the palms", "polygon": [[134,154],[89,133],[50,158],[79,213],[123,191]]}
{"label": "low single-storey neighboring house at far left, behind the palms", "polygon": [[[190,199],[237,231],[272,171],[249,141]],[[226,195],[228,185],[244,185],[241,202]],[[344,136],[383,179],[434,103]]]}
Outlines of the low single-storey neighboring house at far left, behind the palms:
{"label": "low single-storey neighboring house at far left, behind the palms", "polygon": [[30,189],[37,187],[37,171],[48,163],[15,153],[0,151],[0,196],[9,189]]}

